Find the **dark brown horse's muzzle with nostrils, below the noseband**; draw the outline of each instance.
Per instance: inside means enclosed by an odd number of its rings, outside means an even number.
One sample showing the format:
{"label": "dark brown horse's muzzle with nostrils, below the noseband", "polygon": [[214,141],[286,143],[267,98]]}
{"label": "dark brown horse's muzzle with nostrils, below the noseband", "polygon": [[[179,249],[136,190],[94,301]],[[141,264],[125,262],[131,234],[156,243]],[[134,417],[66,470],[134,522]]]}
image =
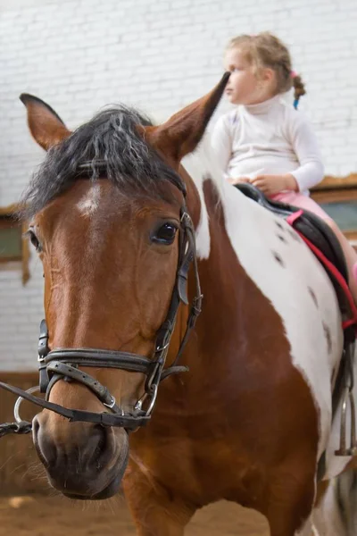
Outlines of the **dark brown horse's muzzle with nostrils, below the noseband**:
{"label": "dark brown horse's muzzle with nostrils, below the noseband", "polygon": [[45,411],[33,420],[33,440],[50,484],[66,497],[103,499],[120,489],[129,458],[126,431],[64,420],[54,425]]}

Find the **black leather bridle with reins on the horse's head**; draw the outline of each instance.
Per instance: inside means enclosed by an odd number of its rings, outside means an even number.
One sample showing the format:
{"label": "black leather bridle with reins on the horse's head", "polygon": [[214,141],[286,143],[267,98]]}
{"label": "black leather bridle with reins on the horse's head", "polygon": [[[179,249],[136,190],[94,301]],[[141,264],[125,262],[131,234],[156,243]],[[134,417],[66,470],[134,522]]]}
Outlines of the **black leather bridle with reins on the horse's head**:
{"label": "black leather bridle with reins on the horse's head", "polygon": [[[95,163],[95,166],[104,163]],[[93,169],[93,163],[84,163],[80,168]],[[184,202],[180,210],[179,225],[179,262],[176,281],[172,291],[170,306],[165,321],[156,334],[154,356],[138,356],[128,352],[104,350],[98,348],[48,348],[48,331],[46,321],[40,324],[38,340],[38,371],[39,386],[27,391],[8,385],[0,381],[0,388],[6,389],[19,396],[14,406],[15,423],[0,424],[0,437],[7,433],[29,433],[32,425],[28,421],[22,421],[19,415],[19,407],[22,399],[29,400],[37,406],[51,410],[58,415],[69,419],[70,422],[98,423],[104,426],[115,426],[127,431],[135,431],[145,425],[152,415],[157,397],[159,384],[171,374],[182,373],[188,370],[187,366],[179,365],[179,357],[187,344],[190,332],[195,327],[197,316],[201,313],[203,295],[201,293],[200,280],[197,267],[195,249],[194,224],[187,212],[185,184],[179,180],[175,182],[183,194]],[[180,302],[188,305],[187,276],[189,268],[193,265],[195,275],[195,297],[193,298],[187,318],[187,328],[181,340],[178,354],[169,367],[164,368],[166,357],[170,347],[170,339],[175,328],[176,318]],[[95,368],[114,368],[133,373],[143,373],[146,376],[143,395],[137,400],[131,413],[124,413],[117,405],[115,398],[99,381],[90,374],[84,373],[79,366]],[[49,401],[51,389],[59,380],[77,381],[90,389],[102,402],[105,411],[102,413],[89,412],[78,409],[70,409]],[[45,399],[35,397],[32,393],[39,390],[46,393]],[[109,410],[109,411],[108,411]]]}

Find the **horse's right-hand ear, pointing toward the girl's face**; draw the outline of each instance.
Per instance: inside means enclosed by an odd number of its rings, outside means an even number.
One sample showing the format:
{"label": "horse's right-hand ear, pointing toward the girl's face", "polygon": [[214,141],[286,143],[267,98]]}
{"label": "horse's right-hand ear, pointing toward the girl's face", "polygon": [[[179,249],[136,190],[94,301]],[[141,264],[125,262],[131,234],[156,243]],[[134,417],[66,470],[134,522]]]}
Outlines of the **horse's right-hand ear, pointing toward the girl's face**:
{"label": "horse's right-hand ear, pointing toward the girl's face", "polygon": [[146,127],[148,142],[174,163],[192,153],[203,137],[204,130],[220,102],[230,73],[225,72],[220,83],[212,91],[186,106],[158,127]]}

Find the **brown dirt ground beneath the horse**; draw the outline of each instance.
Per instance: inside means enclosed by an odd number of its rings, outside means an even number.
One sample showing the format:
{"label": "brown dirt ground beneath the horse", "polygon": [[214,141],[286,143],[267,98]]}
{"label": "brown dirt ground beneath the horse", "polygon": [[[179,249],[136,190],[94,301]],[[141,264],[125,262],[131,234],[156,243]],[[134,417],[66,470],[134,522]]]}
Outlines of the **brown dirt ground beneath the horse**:
{"label": "brown dirt ground beneath the horse", "polygon": [[[134,536],[124,499],[74,503],[40,495],[0,498],[0,536]],[[198,512],[185,536],[269,536],[262,515],[220,502]]]}

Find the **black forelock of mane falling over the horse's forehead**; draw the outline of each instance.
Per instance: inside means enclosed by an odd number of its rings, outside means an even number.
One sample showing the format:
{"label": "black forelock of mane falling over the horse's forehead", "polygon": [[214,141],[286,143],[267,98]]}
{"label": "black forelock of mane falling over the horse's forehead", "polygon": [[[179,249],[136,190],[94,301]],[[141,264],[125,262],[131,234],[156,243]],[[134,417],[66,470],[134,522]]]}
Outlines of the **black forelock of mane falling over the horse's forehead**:
{"label": "black forelock of mane falling over the horse's forehead", "polygon": [[[143,114],[124,105],[97,113],[47,152],[22,198],[21,205],[26,206],[22,215],[31,218],[79,177],[97,180],[105,176],[120,190],[151,197],[158,195],[164,180],[183,189],[179,175],[137,132],[137,125],[152,124]],[[85,163],[91,166],[83,169]]]}

